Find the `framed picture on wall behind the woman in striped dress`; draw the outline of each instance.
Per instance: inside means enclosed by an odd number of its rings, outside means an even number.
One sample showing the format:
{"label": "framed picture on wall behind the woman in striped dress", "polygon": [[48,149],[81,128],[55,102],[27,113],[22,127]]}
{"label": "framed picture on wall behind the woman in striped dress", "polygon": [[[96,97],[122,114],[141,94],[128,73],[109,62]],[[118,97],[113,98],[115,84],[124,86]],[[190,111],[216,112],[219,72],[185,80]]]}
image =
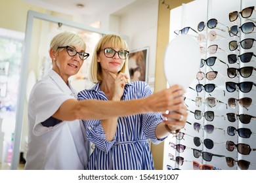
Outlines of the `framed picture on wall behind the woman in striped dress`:
{"label": "framed picture on wall behind the woman in striped dress", "polygon": [[131,81],[147,81],[148,47],[132,50],[129,54],[129,74]]}

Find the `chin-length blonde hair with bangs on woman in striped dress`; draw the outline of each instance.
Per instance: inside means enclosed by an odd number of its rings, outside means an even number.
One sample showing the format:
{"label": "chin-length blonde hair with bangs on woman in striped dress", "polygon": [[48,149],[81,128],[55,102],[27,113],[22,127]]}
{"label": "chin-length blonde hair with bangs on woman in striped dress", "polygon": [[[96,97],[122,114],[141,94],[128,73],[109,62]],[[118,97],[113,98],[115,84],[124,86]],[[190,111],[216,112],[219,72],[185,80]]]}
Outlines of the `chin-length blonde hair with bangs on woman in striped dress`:
{"label": "chin-length blonde hair with bangs on woman in striped dress", "polygon": [[[108,44],[110,47],[120,47],[123,48],[124,50],[129,51],[129,47],[127,45],[127,42],[123,38],[121,38],[118,35],[105,35],[98,41],[98,43],[95,46],[95,50],[93,52],[93,58],[91,62],[91,73],[90,73],[90,79],[91,82],[102,82],[102,69],[100,66],[100,63],[98,62],[98,55],[104,48],[104,46]],[[128,77],[129,75],[129,69],[128,69],[128,58],[125,59],[125,63],[123,64],[123,67],[121,69],[121,73],[125,73]]]}

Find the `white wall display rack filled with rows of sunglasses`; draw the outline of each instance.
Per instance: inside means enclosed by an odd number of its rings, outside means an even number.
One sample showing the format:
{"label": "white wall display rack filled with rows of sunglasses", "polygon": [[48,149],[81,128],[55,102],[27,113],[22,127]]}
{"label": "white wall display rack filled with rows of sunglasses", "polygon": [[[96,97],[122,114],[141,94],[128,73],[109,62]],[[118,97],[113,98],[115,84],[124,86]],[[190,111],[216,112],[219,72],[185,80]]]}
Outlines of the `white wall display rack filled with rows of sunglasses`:
{"label": "white wall display rack filled with rows of sunglasses", "polygon": [[187,123],[164,142],[163,169],[255,170],[255,0],[196,0],[170,17],[170,40],[191,35],[202,56],[186,89]]}

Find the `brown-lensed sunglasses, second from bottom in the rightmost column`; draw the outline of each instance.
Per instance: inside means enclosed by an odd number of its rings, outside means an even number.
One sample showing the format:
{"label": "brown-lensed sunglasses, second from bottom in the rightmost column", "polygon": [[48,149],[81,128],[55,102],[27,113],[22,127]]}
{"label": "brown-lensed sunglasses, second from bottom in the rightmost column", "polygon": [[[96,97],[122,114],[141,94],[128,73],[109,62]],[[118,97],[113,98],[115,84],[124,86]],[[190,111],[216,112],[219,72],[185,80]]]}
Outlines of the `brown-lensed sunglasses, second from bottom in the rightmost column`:
{"label": "brown-lensed sunglasses, second from bottom in the rightmost column", "polygon": [[251,149],[251,147],[248,144],[244,144],[244,143],[235,144],[232,141],[226,141],[226,150],[232,152],[235,147],[238,150],[238,152],[243,155],[249,155],[251,150],[252,151],[256,150],[256,148]]}

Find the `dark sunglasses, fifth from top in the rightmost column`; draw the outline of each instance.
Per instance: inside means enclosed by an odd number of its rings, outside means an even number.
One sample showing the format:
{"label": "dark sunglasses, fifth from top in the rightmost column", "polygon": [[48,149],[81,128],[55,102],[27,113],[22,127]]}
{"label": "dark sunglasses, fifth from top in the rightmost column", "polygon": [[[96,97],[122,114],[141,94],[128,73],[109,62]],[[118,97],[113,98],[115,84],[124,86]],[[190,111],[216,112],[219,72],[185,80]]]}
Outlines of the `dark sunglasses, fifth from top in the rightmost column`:
{"label": "dark sunglasses, fifth from top in the rightmost column", "polygon": [[229,67],[228,69],[226,69],[229,78],[234,78],[234,77],[238,76],[237,73],[239,73],[240,76],[242,76],[243,78],[248,78],[253,73],[253,70],[256,71],[256,68],[249,67],[249,66],[241,67],[239,69],[234,68],[234,67]]}

